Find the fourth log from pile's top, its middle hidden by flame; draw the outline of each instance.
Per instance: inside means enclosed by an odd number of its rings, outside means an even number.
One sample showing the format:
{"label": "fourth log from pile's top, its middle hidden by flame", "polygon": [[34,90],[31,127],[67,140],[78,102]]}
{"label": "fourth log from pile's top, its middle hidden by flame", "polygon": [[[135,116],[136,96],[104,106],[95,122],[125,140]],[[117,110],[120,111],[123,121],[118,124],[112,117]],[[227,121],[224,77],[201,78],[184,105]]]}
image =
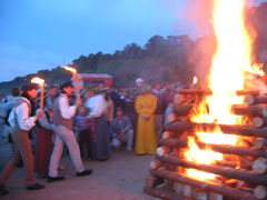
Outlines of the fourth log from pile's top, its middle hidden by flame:
{"label": "fourth log from pile's top, its middle hidden by flame", "polygon": [[[177,138],[169,138],[167,140],[160,140],[161,146],[169,148],[177,147],[187,147],[187,140],[179,140]],[[256,148],[247,148],[247,147],[236,147],[236,146],[227,146],[227,144],[210,144],[204,142],[196,142],[199,147],[207,147],[212,149],[214,151],[218,151],[225,154],[237,154],[237,156],[250,156],[254,158],[265,157],[267,158],[266,149],[256,149]]]}

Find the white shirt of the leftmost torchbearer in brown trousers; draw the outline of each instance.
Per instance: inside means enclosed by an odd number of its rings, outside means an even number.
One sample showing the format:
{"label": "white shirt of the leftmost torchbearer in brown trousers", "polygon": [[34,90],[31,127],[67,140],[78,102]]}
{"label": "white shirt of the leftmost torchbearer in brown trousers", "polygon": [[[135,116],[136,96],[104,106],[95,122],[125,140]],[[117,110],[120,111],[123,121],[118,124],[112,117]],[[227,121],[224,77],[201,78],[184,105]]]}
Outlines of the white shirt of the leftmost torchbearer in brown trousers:
{"label": "white shirt of the leftmost torchbearer in brown trousers", "polygon": [[[30,101],[28,99],[24,98],[24,100],[30,104]],[[26,102],[22,102],[11,110],[8,121],[12,128],[14,128],[14,113],[18,116],[20,129],[29,131],[32,127],[36,126],[36,118],[29,117],[30,110]]]}

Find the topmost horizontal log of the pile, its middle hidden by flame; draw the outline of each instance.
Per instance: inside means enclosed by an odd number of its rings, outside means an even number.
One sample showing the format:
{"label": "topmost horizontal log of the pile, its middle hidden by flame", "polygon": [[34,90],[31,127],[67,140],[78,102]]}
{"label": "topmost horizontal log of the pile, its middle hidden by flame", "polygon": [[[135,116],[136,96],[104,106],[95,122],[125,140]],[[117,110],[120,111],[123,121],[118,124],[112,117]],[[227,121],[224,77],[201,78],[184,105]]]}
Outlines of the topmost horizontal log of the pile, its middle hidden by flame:
{"label": "topmost horizontal log of the pile, its middle hidden by flame", "polygon": [[[177,93],[180,94],[198,94],[198,96],[211,96],[212,91],[209,89],[201,90],[201,89],[179,89]],[[259,96],[258,90],[237,90],[235,92],[236,96]]]}

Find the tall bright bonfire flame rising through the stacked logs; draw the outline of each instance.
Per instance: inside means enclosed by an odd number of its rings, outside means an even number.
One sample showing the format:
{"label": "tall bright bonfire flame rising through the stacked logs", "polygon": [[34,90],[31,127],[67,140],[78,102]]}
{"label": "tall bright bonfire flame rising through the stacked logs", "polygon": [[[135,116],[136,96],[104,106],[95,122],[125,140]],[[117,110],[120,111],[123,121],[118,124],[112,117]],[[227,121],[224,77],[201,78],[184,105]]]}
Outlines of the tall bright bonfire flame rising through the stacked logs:
{"label": "tall bright bonfire flame rising through the stacked logs", "polygon": [[[212,58],[209,77],[209,88],[212,96],[198,104],[197,114],[191,121],[240,124],[241,117],[231,114],[230,106],[244,102],[236,96],[236,90],[243,90],[245,74],[251,72],[251,38],[245,27],[244,9],[246,0],[214,0],[212,24],[217,39],[217,51]],[[221,133],[219,128],[211,132],[196,133],[197,140],[205,143],[237,144],[238,138]],[[210,164],[221,160],[222,154],[211,150],[200,150],[192,138],[188,142],[189,150],[185,157],[197,163]],[[201,158],[201,160],[199,160]],[[215,174],[187,170],[187,176],[196,179],[211,179]]]}

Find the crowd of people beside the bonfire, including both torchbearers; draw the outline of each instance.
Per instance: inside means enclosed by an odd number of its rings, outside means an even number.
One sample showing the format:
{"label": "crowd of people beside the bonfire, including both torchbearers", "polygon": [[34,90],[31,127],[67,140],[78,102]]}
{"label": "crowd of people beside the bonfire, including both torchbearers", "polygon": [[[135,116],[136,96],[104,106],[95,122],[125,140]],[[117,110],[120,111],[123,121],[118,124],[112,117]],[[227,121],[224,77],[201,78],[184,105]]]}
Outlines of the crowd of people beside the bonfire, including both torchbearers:
{"label": "crowd of people beside the bonfire, including both torchbearers", "polygon": [[[12,88],[12,99],[2,108],[1,142],[12,142],[12,158],[0,176],[0,193],[8,193],[6,182],[13,169],[23,163],[27,189],[38,190],[34,171],[48,182],[61,181],[60,159],[69,153],[76,176],[89,176],[87,159],[105,161],[112,150],[136,154],[154,154],[168,119],[168,106],[175,96],[175,84],[162,88],[159,82],[120,92],[103,86],[83,89],[76,97],[71,81],[47,89],[43,109],[34,83]],[[32,146],[32,142],[33,146]]]}

